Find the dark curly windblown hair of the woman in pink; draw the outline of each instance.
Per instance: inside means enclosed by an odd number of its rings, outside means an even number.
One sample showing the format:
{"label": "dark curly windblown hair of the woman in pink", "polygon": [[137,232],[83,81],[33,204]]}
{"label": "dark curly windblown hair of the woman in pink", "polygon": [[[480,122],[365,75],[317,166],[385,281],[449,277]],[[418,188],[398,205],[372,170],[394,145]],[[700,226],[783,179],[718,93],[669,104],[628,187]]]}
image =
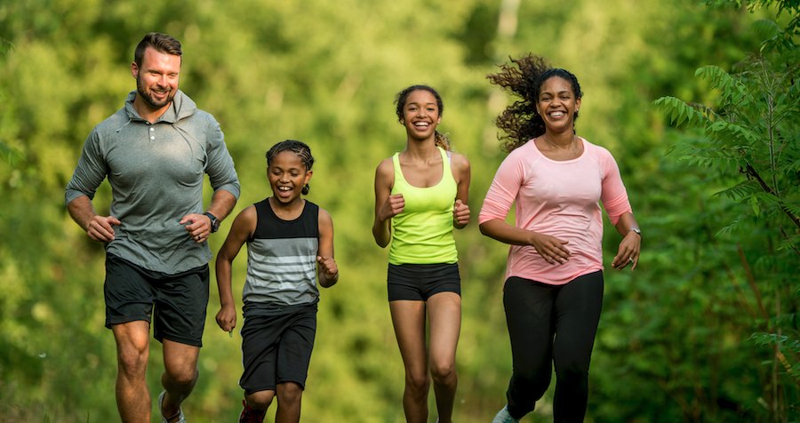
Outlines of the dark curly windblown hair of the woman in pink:
{"label": "dark curly windblown hair of the woman in pink", "polygon": [[[489,79],[490,84],[499,85],[500,88],[522,99],[516,100],[514,104],[508,106],[494,120],[494,124],[506,132],[504,136],[498,134],[498,140],[505,140],[502,149],[510,153],[529,140],[545,133],[544,121],[536,111],[541,84],[553,76],[559,76],[572,85],[576,99],[583,97],[583,92],[580,91],[578,78],[567,70],[553,68],[550,66],[550,62],[542,56],[528,53],[516,60],[510,57],[508,59],[511,60],[511,64],[498,65],[500,72],[490,74],[486,78]],[[574,118],[578,119],[577,111]]]}

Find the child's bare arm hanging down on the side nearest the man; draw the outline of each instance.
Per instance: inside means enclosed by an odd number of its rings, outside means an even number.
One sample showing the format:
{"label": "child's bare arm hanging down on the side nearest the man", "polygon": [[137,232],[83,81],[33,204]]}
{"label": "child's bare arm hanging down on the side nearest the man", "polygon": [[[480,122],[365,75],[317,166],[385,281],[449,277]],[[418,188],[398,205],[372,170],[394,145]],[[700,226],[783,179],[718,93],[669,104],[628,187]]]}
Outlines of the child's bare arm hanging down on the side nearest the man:
{"label": "child's bare arm hanging down on the side nearest the man", "polygon": [[220,311],[217,313],[217,324],[223,331],[233,331],[236,327],[236,303],[231,290],[231,274],[233,260],[255,231],[258,214],[255,206],[244,209],[230,227],[228,237],[217,253],[215,271],[217,275],[217,288],[220,290]]}

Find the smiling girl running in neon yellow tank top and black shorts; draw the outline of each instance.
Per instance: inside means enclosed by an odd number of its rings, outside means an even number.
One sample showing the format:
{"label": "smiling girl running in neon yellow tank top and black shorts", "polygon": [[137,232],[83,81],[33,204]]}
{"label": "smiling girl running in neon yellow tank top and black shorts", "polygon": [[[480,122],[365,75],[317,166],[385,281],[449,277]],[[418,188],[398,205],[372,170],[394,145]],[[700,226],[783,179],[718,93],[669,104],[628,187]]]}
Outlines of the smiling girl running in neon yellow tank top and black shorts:
{"label": "smiling girl running in neon yellow tank top and black shorts", "polygon": [[[461,324],[452,228],[466,227],[469,221],[469,161],[450,153],[449,141],[436,132],[444,108],[436,90],[411,86],[397,94],[396,104],[406,148],[383,160],[375,172],[372,235],[381,248],[392,243],[388,299],[405,366],[406,420],[428,421],[430,378],[438,421],[451,423]],[[430,346],[425,341],[426,310]]]}

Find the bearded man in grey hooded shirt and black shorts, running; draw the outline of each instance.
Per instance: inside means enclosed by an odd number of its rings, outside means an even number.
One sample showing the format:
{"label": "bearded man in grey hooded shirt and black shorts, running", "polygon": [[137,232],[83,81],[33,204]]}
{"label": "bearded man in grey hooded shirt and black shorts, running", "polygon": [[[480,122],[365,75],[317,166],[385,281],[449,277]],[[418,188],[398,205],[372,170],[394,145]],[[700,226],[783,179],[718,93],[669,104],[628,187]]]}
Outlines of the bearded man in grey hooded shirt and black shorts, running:
{"label": "bearded man in grey hooded shirt and black shorts, running", "polygon": [[[181,60],[171,36],[142,39],[131,64],[136,91],[89,134],[66,191],[69,214],[105,243],[106,327],[116,339],[116,403],[124,422],[150,421],[151,316],[164,349],[162,421],[186,421],[180,403],[199,376],[208,304],[207,240],[239,196],[220,124],[178,90]],[[205,213],[204,172],[214,189]],[[109,216],[100,216],[92,198],[107,177],[113,200]]]}

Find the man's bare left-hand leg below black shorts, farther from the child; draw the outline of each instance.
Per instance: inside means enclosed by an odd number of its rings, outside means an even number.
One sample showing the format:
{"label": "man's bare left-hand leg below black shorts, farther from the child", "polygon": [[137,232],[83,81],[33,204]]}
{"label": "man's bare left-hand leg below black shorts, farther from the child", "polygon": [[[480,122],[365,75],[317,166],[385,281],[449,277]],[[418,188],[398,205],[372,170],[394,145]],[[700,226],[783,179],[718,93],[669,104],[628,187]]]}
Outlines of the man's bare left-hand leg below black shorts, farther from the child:
{"label": "man's bare left-hand leg below black shorts, farther from the child", "polygon": [[111,326],[116,339],[116,406],[124,423],[149,423],[148,369],[150,323],[134,321]]}

